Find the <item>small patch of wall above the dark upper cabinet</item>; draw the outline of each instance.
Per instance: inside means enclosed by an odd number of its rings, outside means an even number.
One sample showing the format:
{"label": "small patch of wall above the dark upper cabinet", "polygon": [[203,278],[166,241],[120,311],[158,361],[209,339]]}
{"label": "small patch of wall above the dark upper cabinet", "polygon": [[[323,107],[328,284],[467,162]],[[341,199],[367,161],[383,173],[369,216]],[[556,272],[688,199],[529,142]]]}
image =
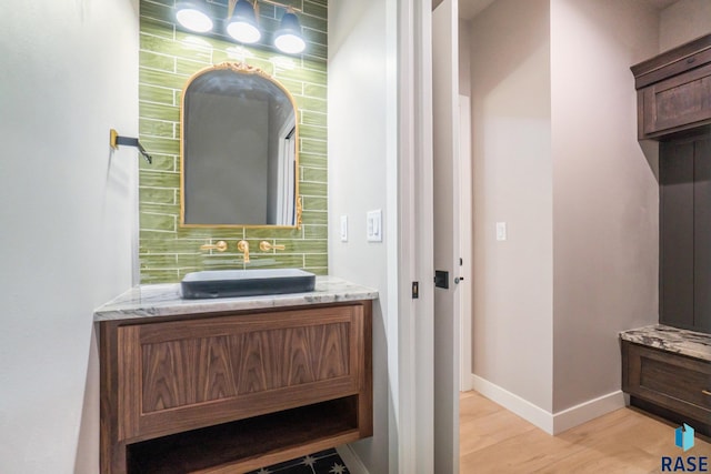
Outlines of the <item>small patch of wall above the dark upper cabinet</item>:
{"label": "small patch of wall above the dark upper cabinet", "polygon": [[711,1],[679,0],[660,13],[659,52],[711,33]]}

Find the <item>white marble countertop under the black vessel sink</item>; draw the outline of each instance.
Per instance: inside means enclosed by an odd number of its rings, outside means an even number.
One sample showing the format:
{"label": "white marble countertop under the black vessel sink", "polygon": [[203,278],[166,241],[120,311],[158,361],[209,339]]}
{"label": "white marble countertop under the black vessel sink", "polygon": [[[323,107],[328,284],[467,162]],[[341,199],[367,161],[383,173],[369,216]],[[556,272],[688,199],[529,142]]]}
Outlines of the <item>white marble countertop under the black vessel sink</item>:
{"label": "white marble countertop under the black vessel sink", "polygon": [[134,286],[126,291],[110,302],[97,307],[93,313],[93,320],[111,321],[176,316],[375,299],[378,299],[378,290],[353,284],[334,276],[317,276],[316,289],[309,293],[211,300],[183,300],[180,297],[180,283],[164,283]]}

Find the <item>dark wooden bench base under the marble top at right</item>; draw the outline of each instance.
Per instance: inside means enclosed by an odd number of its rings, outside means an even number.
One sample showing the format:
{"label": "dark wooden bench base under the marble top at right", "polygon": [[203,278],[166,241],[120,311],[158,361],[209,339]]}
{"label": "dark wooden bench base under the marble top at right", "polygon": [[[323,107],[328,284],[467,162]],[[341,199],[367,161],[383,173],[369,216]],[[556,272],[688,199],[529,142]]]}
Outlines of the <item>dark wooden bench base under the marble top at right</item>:
{"label": "dark wooden bench base under the marble top at right", "polygon": [[711,363],[622,341],[622,390],[632,405],[711,434]]}

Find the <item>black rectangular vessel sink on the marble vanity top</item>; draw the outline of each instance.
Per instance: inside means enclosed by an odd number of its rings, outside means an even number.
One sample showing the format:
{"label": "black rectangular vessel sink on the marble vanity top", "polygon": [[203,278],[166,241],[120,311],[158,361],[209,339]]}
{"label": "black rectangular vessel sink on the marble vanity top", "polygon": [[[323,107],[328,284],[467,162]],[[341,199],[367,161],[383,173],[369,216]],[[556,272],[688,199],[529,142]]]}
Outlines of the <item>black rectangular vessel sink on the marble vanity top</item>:
{"label": "black rectangular vessel sink on the marble vanity top", "polygon": [[180,282],[183,299],[257,296],[313,291],[316,275],[298,269],[208,270]]}

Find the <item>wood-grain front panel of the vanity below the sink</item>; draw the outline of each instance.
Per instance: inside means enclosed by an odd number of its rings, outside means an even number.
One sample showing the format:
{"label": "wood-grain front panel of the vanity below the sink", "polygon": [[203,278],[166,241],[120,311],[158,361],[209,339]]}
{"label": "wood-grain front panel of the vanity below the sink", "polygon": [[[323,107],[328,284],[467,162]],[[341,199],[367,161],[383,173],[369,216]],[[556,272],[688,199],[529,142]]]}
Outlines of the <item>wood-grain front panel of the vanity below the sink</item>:
{"label": "wood-grain front panel of the vanity below the sink", "polygon": [[363,307],[118,329],[119,440],[138,441],[357,394]]}

